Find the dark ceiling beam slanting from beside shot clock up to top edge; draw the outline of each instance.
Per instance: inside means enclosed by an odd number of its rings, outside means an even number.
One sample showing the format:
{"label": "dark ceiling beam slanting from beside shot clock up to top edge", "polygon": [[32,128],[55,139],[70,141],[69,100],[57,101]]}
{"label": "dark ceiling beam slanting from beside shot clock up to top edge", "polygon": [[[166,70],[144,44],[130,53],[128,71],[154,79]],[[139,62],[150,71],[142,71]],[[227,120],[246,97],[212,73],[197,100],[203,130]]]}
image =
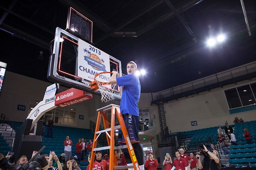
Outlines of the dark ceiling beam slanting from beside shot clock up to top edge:
{"label": "dark ceiling beam slanting from beside shot clock up to top edge", "polygon": [[156,6],[159,6],[161,3],[163,3],[163,0],[154,2],[152,4],[150,4],[149,6],[145,7],[143,10],[141,10],[140,12],[134,14],[133,16],[131,16],[128,20],[126,20],[125,22],[121,23],[119,26],[117,26],[115,29],[111,30],[111,32],[108,32],[107,34],[103,35],[101,38],[99,38],[98,40],[95,41],[95,43],[99,43],[102,40],[105,40],[107,37],[109,37],[110,35],[112,35],[114,32],[119,31],[120,29],[122,29],[123,27],[127,26],[129,23],[133,22],[134,20],[136,20],[137,18],[141,17],[142,15],[144,15],[145,13],[151,11],[152,9],[154,9]]}

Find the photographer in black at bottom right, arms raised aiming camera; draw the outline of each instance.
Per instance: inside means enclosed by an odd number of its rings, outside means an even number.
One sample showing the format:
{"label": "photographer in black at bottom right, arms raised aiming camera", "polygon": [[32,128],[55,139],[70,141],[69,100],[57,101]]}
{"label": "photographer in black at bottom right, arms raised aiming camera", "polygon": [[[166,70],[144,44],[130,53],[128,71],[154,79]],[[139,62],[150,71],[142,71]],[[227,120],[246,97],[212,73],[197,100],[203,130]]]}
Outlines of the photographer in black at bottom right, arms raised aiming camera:
{"label": "photographer in black at bottom right, arms raised aiming camera", "polygon": [[198,169],[199,170],[219,170],[221,169],[221,161],[218,158],[218,153],[213,150],[212,153],[207,150],[207,147],[204,146],[203,150],[204,158],[201,162],[201,155],[198,153],[196,158],[198,159]]}

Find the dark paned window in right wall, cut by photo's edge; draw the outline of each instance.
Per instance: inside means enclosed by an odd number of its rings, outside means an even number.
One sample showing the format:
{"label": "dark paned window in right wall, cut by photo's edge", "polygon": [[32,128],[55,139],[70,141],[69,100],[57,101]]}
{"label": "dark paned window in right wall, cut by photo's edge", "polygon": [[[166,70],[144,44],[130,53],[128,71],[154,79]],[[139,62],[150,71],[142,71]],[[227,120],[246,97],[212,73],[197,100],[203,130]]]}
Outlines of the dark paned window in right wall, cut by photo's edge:
{"label": "dark paned window in right wall, cut by photo's edge", "polygon": [[256,104],[256,83],[238,86],[224,92],[230,109]]}

